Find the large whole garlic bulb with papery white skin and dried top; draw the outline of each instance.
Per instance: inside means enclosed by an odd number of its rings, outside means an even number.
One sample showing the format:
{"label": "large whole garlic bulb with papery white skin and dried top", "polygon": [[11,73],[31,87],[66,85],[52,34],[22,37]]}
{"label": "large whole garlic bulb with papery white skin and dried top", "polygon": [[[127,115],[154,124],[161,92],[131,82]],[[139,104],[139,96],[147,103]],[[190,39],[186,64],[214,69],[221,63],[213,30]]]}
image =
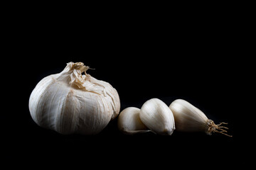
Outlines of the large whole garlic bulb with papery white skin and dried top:
{"label": "large whole garlic bulb with papery white skin and dried top", "polygon": [[[107,82],[87,74],[82,62],[43,78],[29,98],[29,111],[41,127],[61,134],[97,134],[117,117],[120,101]],[[82,72],[85,74],[82,75]]]}

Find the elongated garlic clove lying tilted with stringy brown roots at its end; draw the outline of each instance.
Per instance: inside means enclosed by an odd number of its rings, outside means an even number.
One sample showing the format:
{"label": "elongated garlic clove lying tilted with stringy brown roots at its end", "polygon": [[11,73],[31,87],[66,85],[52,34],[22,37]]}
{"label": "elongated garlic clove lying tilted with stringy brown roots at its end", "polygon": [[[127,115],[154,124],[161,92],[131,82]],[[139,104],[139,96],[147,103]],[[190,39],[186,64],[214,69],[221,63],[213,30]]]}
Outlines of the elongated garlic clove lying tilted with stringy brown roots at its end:
{"label": "elongated garlic clove lying tilted with stringy brown roots at its end", "polygon": [[[176,130],[183,132],[206,132],[211,135],[212,132],[220,132],[224,135],[226,127],[215,125],[213,120],[209,120],[206,115],[195,106],[191,105],[187,101],[177,99],[169,106],[171,111],[174,113],[174,119],[176,124]],[[230,135],[228,135],[230,136]]]}

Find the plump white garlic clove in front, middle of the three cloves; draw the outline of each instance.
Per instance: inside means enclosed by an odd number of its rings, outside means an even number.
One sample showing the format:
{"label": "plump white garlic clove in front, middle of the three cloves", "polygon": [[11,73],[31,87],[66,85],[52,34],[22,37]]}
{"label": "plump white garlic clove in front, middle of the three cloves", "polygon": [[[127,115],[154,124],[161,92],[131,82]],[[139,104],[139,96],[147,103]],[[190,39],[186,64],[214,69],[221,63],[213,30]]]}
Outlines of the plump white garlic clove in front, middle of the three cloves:
{"label": "plump white garlic clove in front, middle of the three cloves", "polygon": [[158,98],[151,98],[143,104],[139,118],[147,128],[159,135],[171,135],[175,130],[173,113]]}

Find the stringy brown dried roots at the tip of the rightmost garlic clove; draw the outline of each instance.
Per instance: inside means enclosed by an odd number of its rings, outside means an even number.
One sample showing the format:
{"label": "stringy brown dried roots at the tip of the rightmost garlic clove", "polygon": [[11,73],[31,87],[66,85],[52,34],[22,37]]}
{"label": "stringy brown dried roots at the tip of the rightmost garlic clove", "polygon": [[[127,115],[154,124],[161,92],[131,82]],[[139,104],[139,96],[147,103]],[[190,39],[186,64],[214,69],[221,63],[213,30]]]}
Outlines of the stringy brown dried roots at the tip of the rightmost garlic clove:
{"label": "stringy brown dried roots at the tip of the rightmost garlic clove", "polygon": [[225,126],[220,126],[220,125],[227,125],[228,123],[220,123],[218,125],[215,125],[213,120],[208,120],[207,125],[206,125],[206,134],[211,135],[212,132],[218,132],[223,135],[226,135],[228,137],[232,137],[232,135],[227,134],[228,128]]}

